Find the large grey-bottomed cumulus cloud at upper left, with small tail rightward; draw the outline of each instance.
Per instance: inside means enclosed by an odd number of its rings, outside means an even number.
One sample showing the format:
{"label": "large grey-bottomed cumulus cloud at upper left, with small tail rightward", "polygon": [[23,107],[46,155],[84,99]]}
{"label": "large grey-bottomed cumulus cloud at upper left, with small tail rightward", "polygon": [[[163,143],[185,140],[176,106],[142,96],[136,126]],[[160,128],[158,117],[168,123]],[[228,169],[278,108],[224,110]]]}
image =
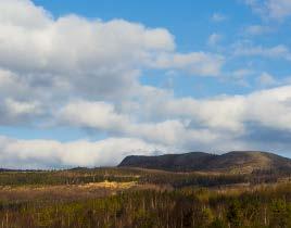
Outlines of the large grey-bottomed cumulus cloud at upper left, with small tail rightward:
{"label": "large grey-bottomed cumulus cloud at upper left, with small tail rightward", "polygon": [[165,28],[74,14],[54,18],[28,0],[1,1],[0,15],[0,67],[34,86],[45,81],[85,96],[114,91],[119,97],[135,90],[143,68],[212,75],[223,65],[211,53],[176,53],[175,38]]}

